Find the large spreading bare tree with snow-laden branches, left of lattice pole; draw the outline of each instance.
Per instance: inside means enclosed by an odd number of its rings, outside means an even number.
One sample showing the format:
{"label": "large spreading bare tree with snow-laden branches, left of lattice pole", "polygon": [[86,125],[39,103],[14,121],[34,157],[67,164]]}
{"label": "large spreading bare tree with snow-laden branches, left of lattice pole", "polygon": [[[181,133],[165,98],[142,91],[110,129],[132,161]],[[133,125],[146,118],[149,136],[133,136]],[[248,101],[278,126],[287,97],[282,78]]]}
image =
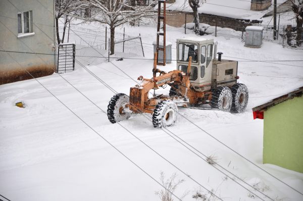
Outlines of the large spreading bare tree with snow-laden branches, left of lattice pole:
{"label": "large spreading bare tree with snow-laden branches, left of lattice pole", "polygon": [[[153,1],[147,6],[141,5],[142,1],[134,0],[77,0],[81,8],[94,8],[90,17],[79,17],[89,22],[108,24],[111,30],[111,55],[115,53],[115,28],[139,20],[142,17],[154,16],[154,7],[158,1]],[[139,3],[138,3],[139,2]],[[142,4],[144,4],[143,1]]]}

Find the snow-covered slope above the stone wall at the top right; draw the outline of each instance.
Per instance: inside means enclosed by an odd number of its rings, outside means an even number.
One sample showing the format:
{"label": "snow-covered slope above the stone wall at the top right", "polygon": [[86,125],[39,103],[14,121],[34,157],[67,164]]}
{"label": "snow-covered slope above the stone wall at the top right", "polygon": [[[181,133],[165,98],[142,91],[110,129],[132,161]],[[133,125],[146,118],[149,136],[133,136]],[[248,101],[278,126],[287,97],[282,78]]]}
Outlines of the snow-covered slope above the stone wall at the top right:
{"label": "snow-covered slope above the stone wall at the top right", "polygon": [[[278,2],[283,3],[285,0],[278,0]],[[184,4],[184,0],[176,0],[175,3],[166,5],[167,10],[192,13],[192,9],[188,6],[188,2]],[[269,10],[270,9],[265,11],[251,11],[250,1],[239,0],[208,0],[198,8],[199,13],[244,20],[261,19]]]}

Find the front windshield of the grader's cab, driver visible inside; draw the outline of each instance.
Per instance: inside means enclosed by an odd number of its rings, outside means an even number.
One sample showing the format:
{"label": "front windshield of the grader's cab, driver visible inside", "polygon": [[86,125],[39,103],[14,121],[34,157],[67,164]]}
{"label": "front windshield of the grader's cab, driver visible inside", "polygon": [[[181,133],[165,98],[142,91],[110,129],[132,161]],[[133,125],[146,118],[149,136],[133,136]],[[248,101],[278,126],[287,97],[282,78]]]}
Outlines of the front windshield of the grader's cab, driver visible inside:
{"label": "front windshield of the grader's cab, driver visible inside", "polygon": [[191,57],[191,62],[198,62],[198,46],[195,44],[179,43],[179,58],[181,62],[188,62]]}

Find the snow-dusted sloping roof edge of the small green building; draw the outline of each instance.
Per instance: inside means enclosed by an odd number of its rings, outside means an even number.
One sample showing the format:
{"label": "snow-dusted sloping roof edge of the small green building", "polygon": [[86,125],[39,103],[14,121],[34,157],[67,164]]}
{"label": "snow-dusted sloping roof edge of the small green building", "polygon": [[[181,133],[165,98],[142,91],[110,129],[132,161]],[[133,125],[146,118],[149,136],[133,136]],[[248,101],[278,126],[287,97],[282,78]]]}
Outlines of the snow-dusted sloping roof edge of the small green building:
{"label": "snow-dusted sloping roof edge of the small green building", "polygon": [[260,104],[255,108],[252,108],[252,111],[266,110],[272,106],[284,102],[285,100],[293,98],[294,96],[301,96],[302,93],[303,93],[303,85],[298,85],[291,90],[287,90],[284,91],[283,93],[280,93],[275,98],[271,98],[270,100],[265,100],[263,104]]}

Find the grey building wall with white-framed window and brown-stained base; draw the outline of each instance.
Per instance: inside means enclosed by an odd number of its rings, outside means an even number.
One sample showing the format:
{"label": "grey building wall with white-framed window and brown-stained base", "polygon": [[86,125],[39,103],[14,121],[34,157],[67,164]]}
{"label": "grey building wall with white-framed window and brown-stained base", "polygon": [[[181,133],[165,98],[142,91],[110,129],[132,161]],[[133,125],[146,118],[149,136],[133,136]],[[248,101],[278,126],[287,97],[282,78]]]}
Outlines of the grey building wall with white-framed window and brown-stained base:
{"label": "grey building wall with white-framed window and brown-stained base", "polygon": [[0,84],[56,72],[54,1],[2,0],[0,13]]}

